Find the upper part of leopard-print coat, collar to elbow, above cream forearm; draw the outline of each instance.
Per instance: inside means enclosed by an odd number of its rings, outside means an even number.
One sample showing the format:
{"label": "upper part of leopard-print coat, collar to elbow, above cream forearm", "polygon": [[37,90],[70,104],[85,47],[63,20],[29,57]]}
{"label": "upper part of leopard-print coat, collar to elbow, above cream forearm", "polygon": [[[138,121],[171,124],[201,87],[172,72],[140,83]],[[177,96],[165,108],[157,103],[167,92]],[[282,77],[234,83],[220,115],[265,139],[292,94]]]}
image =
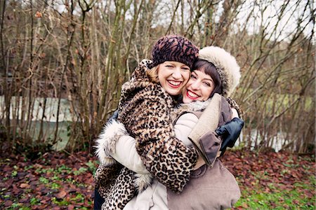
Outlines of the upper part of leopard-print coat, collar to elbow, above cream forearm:
{"label": "upper part of leopard-print coat, collar to elbow, above cream forearm", "polygon": [[136,150],[147,170],[160,183],[180,193],[197,161],[197,151],[176,139],[171,120],[173,99],[161,85],[149,83],[145,71],[150,63],[140,62],[134,71],[136,79],[125,83],[118,120],[136,139]]}

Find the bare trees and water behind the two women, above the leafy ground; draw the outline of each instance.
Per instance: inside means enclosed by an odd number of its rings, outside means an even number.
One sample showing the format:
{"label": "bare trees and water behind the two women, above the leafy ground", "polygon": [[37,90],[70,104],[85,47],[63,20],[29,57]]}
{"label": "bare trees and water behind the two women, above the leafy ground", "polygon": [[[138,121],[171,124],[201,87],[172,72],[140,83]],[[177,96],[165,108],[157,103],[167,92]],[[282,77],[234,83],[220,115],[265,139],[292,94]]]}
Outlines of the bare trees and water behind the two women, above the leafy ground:
{"label": "bare trees and water behind the two women, above the leafy ground", "polygon": [[67,153],[92,152],[121,85],[165,34],[236,57],[239,147],[315,151],[313,1],[0,2],[1,154],[44,153],[65,138]]}

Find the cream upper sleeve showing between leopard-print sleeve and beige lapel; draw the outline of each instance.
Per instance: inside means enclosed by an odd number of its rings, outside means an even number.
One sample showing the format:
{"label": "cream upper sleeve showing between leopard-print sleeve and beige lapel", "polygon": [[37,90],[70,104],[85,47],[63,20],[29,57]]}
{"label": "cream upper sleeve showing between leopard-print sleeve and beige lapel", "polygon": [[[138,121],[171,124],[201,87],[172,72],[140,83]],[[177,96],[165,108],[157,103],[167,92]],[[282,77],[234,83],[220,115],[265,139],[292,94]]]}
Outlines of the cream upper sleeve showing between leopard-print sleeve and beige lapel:
{"label": "cream upper sleeve showing between leopard-print sleeve and beige lapel", "polygon": [[177,139],[183,141],[186,146],[192,146],[191,141],[187,138],[193,127],[197,124],[199,118],[194,113],[184,113],[176,121],[174,131],[176,132]]}

